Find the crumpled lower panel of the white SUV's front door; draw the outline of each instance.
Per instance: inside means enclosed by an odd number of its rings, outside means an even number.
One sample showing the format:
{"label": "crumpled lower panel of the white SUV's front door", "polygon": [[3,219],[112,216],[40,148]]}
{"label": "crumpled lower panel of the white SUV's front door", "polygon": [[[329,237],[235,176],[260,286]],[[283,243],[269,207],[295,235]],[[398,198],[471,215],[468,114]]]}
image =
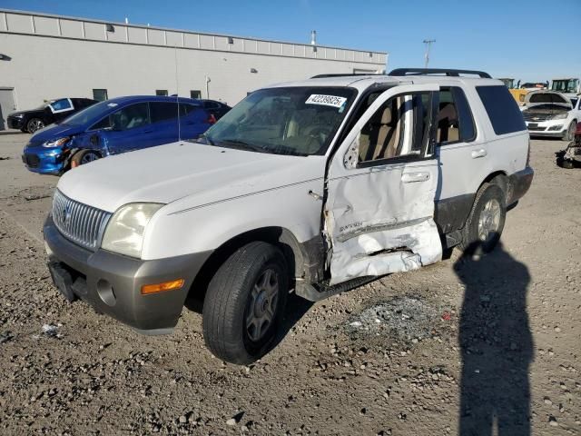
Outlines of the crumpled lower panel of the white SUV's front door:
{"label": "crumpled lower panel of the white SUV's front door", "polygon": [[435,160],[355,169],[349,174],[329,181],[325,227],[331,285],[411,271],[441,259],[433,218]]}

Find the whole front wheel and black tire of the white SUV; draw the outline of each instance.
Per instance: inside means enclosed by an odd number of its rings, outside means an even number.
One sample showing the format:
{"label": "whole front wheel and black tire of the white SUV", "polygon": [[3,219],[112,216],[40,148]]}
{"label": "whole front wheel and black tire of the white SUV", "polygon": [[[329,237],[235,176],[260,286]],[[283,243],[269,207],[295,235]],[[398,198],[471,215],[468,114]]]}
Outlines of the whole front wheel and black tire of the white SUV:
{"label": "whole front wheel and black tire of the white SUV", "polygon": [[284,255],[270,243],[248,243],[212,277],[203,302],[204,342],[218,358],[248,364],[270,350],[289,290]]}

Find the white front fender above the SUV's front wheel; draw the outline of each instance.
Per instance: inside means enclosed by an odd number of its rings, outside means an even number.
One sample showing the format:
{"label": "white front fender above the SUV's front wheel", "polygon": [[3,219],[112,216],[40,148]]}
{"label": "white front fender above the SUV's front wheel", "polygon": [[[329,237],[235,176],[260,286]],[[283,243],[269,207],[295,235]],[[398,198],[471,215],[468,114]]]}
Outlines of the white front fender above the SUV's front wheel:
{"label": "white front fender above the SUV's front wheel", "polygon": [[202,206],[168,204],[153,216],[143,236],[142,259],[214,250],[263,227],[287,229],[297,242],[320,234],[323,180],[297,183]]}

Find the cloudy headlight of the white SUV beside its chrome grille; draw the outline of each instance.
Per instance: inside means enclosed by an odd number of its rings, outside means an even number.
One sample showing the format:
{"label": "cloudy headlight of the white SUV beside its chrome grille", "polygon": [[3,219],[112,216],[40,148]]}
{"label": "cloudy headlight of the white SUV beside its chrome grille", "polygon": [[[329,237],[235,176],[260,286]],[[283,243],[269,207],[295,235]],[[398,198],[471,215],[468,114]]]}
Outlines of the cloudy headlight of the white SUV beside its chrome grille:
{"label": "cloudy headlight of the white SUV beside its chrome grille", "polygon": [[129,203],[120,207],[107,224],[101,247],[113,253],[140,258],[145,227],[163,206],[160,203]]}

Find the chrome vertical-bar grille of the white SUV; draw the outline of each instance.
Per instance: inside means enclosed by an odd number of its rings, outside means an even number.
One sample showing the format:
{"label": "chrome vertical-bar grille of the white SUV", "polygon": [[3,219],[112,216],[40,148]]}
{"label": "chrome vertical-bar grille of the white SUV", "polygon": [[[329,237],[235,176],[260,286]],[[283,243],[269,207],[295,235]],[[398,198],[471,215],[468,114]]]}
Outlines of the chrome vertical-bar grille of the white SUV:
{"label": "chrome vertical-bar grille of the white SUV", "polygon": [[112,213],[75,202],[58,189],[53,197],[53,221],[64,237],[89,250],[100,243]]}

